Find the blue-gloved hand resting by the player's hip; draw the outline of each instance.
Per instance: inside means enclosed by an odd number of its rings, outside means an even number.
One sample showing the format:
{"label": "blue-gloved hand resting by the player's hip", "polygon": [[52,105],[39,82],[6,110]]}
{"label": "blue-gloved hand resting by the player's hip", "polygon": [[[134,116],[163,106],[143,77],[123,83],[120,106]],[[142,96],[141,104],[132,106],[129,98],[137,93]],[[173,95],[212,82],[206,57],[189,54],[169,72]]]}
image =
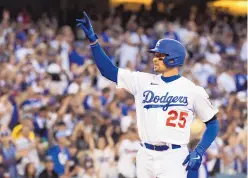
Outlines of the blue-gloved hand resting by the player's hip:
{"label": "blue-gloved hand resting by the player's hip", "polygon": [[198,170],[202,161],[202,155],[197,153],[195,150],[192,151],[184,160],[183,165],[187,165],[186,171],[188,170]]}

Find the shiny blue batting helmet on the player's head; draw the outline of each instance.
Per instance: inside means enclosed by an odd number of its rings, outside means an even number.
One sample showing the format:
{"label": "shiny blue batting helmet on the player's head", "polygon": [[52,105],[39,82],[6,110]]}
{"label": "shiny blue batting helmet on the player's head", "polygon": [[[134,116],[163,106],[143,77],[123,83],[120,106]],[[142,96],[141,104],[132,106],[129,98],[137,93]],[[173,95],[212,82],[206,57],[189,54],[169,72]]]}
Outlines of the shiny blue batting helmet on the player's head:
{"label": "shiny blue batting helmet on the player's head", "polygon": [[168,38],[159,40],[149,52],[165,54],[164,64],[167,67],[182,66],[186,57],[185,47],[179,41]]}

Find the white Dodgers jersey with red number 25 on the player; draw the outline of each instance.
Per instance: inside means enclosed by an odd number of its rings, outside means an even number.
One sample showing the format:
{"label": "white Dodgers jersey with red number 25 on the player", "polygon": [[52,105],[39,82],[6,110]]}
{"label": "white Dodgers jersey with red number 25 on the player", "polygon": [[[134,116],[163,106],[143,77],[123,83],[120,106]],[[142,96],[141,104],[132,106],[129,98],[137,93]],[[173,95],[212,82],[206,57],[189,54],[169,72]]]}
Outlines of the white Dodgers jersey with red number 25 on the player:
{"label": "white Dodgers jersey with red number 25 on the player", "polygon": [[218,112],[205,90],[183,76],[166,83],[161,75],[119,68],[117,85],[135,97],[142,142],[188,144],[195,115],[207,122]]}

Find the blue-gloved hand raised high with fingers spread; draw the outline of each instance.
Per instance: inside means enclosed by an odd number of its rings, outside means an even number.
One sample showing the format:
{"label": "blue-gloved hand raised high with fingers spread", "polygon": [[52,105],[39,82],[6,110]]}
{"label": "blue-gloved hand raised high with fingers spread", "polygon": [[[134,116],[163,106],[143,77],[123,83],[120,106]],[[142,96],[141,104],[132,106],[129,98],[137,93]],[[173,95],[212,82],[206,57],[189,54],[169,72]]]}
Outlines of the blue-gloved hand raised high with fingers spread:
{"label": "blue-gloved hand raised high with fingers spread", "polygon": [[76,21],[78,22],[77,26],[84,31],[85,36],[89,39],[91,43],[93,43],[98,39],[98,37],[95,34],[94,29],[91,25],[90,18],[88,17],[86,12],[84,12],[83,14],[83,19],[76,19]]}

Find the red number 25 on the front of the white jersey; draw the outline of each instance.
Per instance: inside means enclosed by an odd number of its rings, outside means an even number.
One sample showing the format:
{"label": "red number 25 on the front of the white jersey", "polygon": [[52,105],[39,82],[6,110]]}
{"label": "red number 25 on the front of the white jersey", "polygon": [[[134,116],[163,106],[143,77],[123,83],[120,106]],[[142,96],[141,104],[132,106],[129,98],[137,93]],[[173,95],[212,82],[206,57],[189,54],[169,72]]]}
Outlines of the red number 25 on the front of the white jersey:
{"label": "red number 25 on the front of the white jersey", "polygon": [[184,128],[186,124],[187,112],[178,112],[176,110],[171,110],[168,112],[168,119],[166,120],[166,126],[169,127],[180,127]]}

